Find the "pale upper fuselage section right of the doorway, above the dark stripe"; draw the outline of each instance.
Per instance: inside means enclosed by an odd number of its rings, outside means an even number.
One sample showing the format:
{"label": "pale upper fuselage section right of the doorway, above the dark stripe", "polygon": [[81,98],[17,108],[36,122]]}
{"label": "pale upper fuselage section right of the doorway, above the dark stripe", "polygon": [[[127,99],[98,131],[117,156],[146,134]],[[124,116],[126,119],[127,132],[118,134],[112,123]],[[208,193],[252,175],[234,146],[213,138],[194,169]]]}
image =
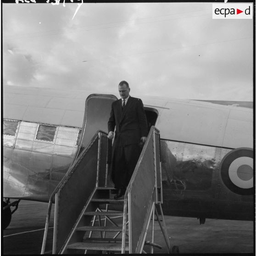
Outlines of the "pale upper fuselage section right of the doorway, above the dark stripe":
{"label": "pale upper fuselage section right of the doorway, above the dark stripe", "polygon": [[252,148],[252,110],[209,104],[167,102],[156,121],[161,139],[232,149]]}

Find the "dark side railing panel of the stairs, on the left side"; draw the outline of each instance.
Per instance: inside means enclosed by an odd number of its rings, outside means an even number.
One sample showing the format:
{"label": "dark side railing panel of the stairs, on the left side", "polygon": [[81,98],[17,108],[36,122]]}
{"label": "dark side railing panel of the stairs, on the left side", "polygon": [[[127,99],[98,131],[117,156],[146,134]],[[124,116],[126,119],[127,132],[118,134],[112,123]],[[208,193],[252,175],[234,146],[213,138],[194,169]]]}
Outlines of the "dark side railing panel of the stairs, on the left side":
{"label": "dark side railing panel of the stairs, on the left side", "polygon": [[56,254],[61,252],[62,246],[71,234],[78,216],[95,187],[105,186],[108,146],[107,134],[97,131],[50,196],[41,254],[45,253],[50,212],[54,200],[52,253]]}

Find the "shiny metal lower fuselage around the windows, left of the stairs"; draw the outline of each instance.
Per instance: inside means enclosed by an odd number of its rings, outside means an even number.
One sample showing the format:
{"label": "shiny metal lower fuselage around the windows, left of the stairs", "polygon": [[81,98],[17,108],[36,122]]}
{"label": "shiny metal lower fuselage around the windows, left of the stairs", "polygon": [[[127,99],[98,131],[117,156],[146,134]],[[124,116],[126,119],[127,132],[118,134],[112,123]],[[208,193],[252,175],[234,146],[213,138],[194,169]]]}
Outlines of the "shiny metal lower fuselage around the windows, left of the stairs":
{"label": "shiny metal lower fuselage around the windows, left of the stairs", "polygon": [[39,123],[20,122],[15,145],[4,137],[4,197],[48,201],[77,151],[79,128],[56,126],[53,141],[36,139]]}

